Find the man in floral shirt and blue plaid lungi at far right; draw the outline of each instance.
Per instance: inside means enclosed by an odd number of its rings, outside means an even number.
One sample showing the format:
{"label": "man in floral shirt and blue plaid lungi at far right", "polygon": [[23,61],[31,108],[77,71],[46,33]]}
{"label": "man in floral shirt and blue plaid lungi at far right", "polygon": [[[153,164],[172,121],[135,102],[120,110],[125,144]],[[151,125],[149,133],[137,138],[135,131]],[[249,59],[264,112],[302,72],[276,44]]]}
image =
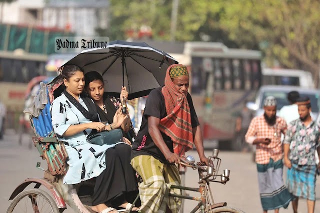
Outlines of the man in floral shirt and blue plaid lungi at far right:
{"label": "man in floral shirt and blue plaid lungi at far right", "polygon": [[295,196],[293,212],[297,213],[298,198],[307,199],[308,213],[314,212],[315,176],[319,166],[315,163],[315,150],[320,154],[320,127],[311,116],[308,97],[297,100],[299,118],[290,122],[284,138],[284,165],[288,168],[286,185]]}

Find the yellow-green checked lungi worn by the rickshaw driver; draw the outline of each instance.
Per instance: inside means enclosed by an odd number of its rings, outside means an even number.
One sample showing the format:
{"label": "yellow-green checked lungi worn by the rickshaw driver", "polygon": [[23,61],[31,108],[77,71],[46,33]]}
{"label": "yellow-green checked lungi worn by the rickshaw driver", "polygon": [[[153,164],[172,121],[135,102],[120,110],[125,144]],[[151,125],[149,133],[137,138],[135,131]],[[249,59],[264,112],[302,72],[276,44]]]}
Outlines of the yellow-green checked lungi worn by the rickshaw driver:
{"label": "yellow-green checked lungi worn by the rickshaw driver", "polygon": [[178,213],[181,199],[168,197],[168,194],[181,195],[179,189],[169,189],[171,185],[180,186],[177,166],[162,164],[149,155],[139,155],[131,159],[133,169],[141,176],[139,184],[141,213],[165,213],[168,206],[172,213]]}

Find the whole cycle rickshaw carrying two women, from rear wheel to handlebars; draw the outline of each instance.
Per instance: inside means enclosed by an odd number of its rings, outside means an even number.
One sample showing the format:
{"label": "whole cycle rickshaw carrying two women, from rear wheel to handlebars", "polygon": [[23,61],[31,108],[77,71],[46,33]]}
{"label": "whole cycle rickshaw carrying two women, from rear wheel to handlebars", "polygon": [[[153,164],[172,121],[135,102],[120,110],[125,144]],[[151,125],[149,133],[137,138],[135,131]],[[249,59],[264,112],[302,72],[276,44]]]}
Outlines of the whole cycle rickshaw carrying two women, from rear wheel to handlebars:
{"label": "whole cycle rickshaw carrying two women, from rear wheel to handlebars", "polygon": [[[40,110],[38,117],[31,117],[31,129],[36,135],[32,137],[32,141],[38,150],[42,160],[45,160],[47,169],[40,167],[37,163],[36,167],[43,170],[43,178],[27,178],[20,183],[9,200],[12,200],[6,213],[62,213],[68,205],[75,213],[92,213],[91,195],[93,193],[94,178],[81,182],[79,184],[67,185],[63,184],[62,179],[67,171],[67,153],[63,142],[58,141],[52,131],[49,107],[55,97],[62,92],[62,79],[56,77],[45,85],[44,95],[47,96],[47,103]],[[40,93],[38,95],[41,95]],[[224,170],[223,174],[218,175],[218,169],[221,159],[217,157],[218,150],[213,150],[209,159],[212,165],[209,167],[203,165],[195,165],[194,159],[190,156],[181,158],[181,165],[197,169],[199,174],[199,188],[189,188],[183,186],[171,186],[180,190],[189,190],[200,193],[199,197],[189,197],[185,194],[169,196],[181,199],[198,201],[197,206],[191,211],[192,213],[200,210],[201,213],[243,213],[240,210],[227,207],[226,203],[217,203],[213,201],[213,196],[209,187],[210,182],[225,184],[229,181],[229,170]],[[218,180],[220,178],[220,180]],[[26,189],[27,186],[33,185],[32,189]],[[41,188],[40,188],[41,187]],[[138,196],[132,203],[138,200]],[[132,207],[133,207],[132,205]],[[22,206],[22,207],[21,207]],[[131,208],[132,208],[131,207]],[[131,212],[118,210],[118,212]]]}

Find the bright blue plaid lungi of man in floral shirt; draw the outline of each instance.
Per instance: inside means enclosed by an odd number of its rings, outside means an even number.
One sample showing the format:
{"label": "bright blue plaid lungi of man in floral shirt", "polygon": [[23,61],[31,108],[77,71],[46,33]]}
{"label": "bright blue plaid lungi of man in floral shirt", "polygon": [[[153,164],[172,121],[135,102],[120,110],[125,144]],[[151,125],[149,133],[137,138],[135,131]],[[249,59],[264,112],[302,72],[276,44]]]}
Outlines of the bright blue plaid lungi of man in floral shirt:
{"label": "bright blue plaid lungi of man in floral shirt", "polygon": [[315,165],[299,166],[292,164],[287,171],[286,186],[295,197],[304,198],[310,201],[315,200]]}

